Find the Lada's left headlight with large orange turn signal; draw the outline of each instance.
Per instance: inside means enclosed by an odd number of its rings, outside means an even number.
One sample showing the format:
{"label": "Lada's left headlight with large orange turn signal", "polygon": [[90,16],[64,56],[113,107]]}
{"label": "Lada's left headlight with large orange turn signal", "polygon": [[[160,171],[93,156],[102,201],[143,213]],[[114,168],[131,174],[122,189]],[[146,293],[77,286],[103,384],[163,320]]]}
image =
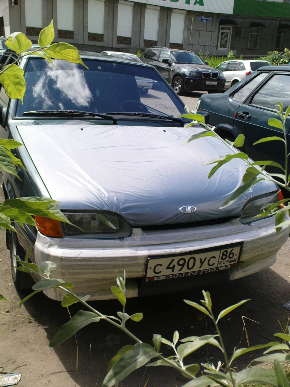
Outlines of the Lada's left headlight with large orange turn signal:
{"label": "Lada's left headlight with large orange turn signal", "polygon": [[[75,237],[90,239],[126,238],[132,234],[129,223],[121,216],[111,212],[65,212],[68,220],[74,224],[61,223],[44,217],[36,217],[39,231],[55,238]],[[61,228],[63,232],[61,232]]]}

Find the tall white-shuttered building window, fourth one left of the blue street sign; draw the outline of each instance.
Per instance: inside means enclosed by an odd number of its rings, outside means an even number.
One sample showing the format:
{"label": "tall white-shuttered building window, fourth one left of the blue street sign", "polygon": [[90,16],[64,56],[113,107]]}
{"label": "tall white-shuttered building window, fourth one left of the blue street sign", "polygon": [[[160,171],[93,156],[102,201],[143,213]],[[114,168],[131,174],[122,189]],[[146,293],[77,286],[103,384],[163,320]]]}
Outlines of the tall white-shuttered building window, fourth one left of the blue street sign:
{"label": "tall white-shuttered building window, fourth one left of the blue street sign", "polygon": [[104,0],[89,0],[88,39],[95,42],[104,41]]}

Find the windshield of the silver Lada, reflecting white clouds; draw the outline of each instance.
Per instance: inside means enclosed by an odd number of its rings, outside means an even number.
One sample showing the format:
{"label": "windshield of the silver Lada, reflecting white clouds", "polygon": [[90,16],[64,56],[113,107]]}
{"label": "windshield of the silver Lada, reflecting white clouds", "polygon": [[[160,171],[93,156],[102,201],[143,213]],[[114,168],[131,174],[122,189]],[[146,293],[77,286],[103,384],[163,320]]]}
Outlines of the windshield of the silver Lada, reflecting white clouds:
{"label": "windshield of the silver Lada, reflecting white clouds", "polygon": [[184,113],[165,81],[151,68],[84,60],[82,65],[31,58],[25,70],[26,92],[15,115],[27,111],[78,110],[92,113]]}

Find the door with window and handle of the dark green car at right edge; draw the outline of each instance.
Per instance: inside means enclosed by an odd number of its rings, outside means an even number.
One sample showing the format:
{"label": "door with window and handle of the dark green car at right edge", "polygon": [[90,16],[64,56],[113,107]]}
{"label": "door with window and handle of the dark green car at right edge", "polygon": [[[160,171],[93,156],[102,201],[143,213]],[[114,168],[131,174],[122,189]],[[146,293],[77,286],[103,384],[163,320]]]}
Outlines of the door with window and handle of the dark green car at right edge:
{"label": "door with window and handle of the dark green car at right edge", "polygon": [[[278,119],[275,112],[277,101],[283,104],[284,111],[290,104],[290,74],[272,74],[261,82],[245,103],[239,106],[234,126],[239,133],[245,135],[244,151],[252,159],[257,161],[273,160],[285,167],[285,145],[282,141],[274,140],[253,145],[264,137],[284,138],[283,131],[280,128],[268,125],[270,118]],[[290,119],[287,118],[288,149],[290,149],[289,128]],[[270,169],[276,170],[272,167]]]}

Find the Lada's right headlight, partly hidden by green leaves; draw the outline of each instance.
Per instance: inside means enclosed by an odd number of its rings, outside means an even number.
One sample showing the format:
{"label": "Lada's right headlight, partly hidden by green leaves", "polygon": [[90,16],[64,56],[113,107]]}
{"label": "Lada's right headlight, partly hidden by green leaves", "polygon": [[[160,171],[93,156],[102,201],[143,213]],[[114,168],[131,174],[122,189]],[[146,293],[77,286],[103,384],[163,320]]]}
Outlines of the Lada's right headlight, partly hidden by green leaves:
{"label": "Lada's right headlight, partly hidden by green leaves", "polygon": [[278,192],[271,192],[270,194],[253,197],[248,200],[242,208],[240,216],[241,223],[249,224],[261,220],[262,218],[257,217],[257,215],[263,214],[263,212],[266,211],[267,208],[265,206],[275,204],[282,199],[283,195],[280,190]]}

